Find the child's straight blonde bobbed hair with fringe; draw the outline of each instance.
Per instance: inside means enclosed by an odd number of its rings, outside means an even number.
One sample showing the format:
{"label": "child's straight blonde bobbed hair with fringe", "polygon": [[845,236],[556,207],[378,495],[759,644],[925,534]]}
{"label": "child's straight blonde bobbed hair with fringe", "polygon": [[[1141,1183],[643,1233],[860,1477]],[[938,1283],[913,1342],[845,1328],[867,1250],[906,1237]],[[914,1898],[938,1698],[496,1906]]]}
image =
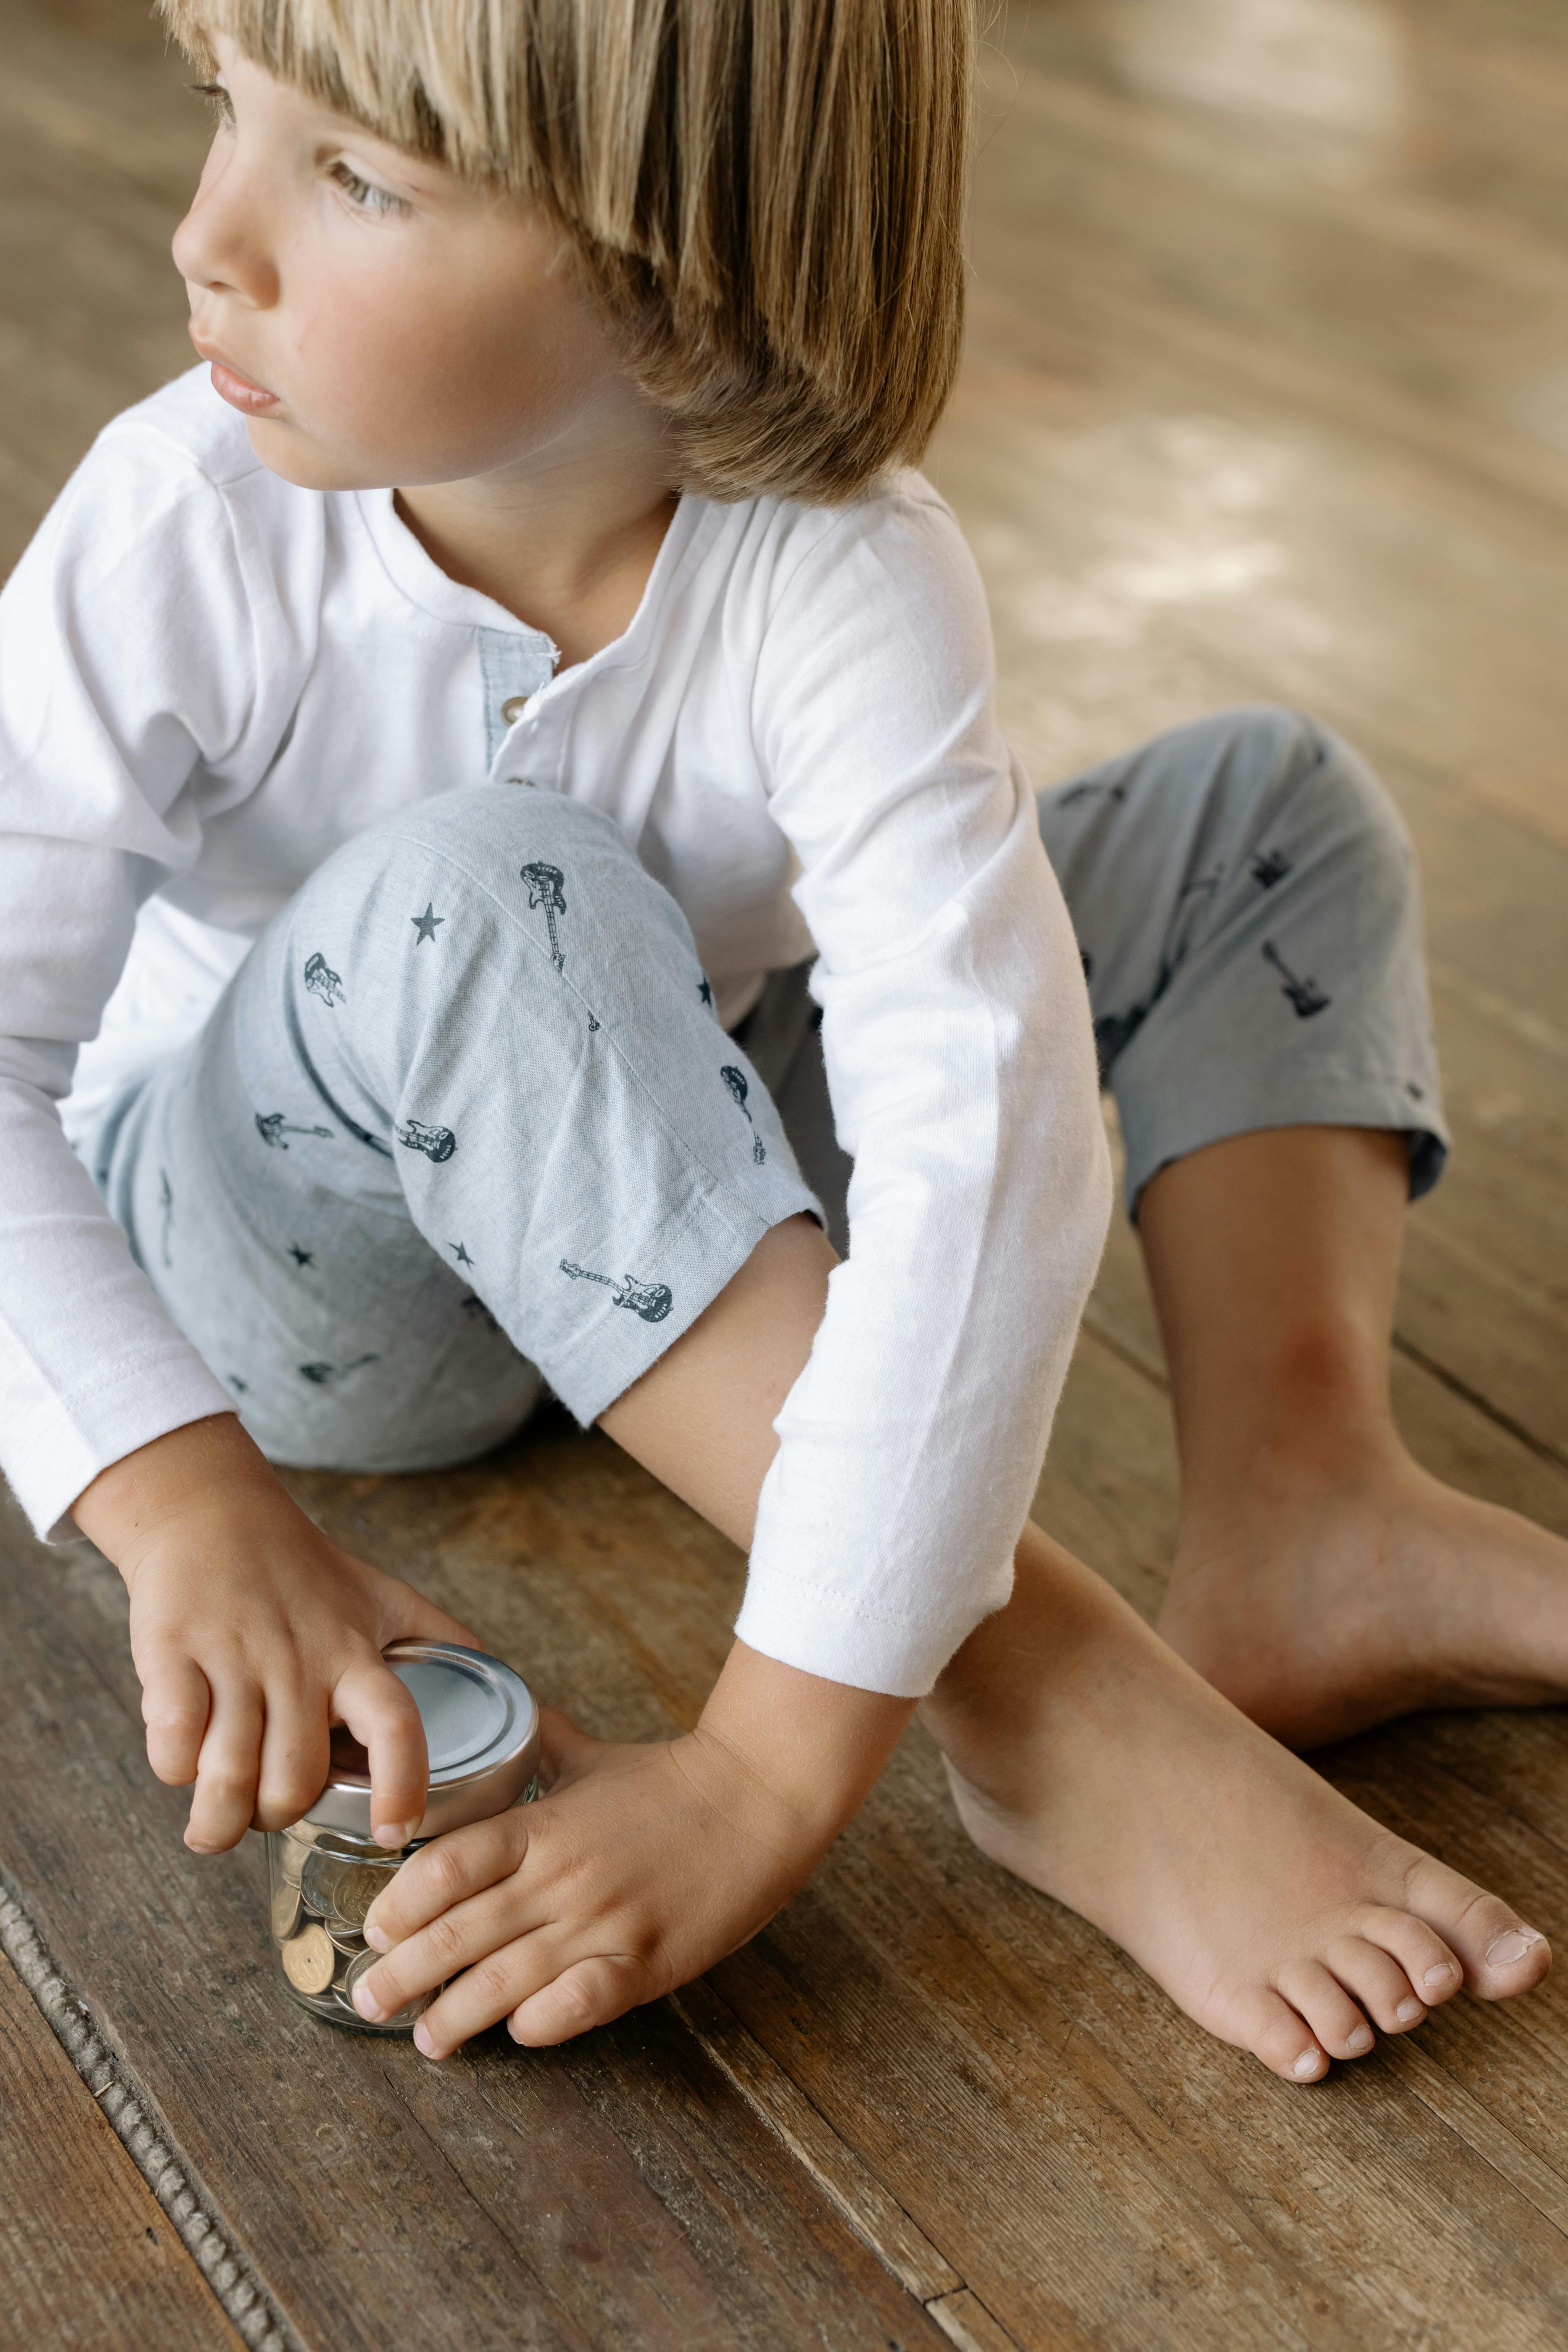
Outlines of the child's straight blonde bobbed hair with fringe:
{"label": "child's straight blonde bobbed hair with fringe", "polygon": [[715,499],[919,459],[964,322],[973,0],[160,0],[541,205]]}

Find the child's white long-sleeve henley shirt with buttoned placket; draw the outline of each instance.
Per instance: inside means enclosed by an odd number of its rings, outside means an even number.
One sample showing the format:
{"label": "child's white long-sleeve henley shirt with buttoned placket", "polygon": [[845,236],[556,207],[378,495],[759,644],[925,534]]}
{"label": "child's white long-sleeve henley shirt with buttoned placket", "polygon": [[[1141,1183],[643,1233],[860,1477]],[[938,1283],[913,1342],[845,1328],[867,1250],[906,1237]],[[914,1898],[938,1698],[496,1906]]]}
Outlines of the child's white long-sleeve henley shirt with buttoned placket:
{"label": "child's white long-sleeve henley shirt with buttoned placket", "polygon": [[110,1461],[233,1411],[68,1134],[339,842],[527,776],[621,823],[724,1023],[820,957],[851,1254],[736,1630],[922,1693],[1006,1597],[1110,1207],[978,576],[919,475],[835,510],[684,499],[628,633],[550,656],[390,492],[268,473],[200,369],[87,454],[0,595],[0,1463],[59,1538]]}

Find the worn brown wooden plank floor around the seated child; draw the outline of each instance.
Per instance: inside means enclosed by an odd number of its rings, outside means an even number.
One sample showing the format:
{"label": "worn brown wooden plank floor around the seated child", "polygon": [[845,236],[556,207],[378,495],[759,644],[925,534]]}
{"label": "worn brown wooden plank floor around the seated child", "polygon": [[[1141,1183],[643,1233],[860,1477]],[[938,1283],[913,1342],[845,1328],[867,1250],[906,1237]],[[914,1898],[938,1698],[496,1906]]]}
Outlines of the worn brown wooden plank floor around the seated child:
{"label": "worn brown wooden plank floor around the seated child", "polygon": [[[94,428],[186,365],[165,249],[202,122],[139,0],[0,0],[0,59],[9,564]],[[1041,781],[1246,699],[1382,764],[1458,1134],[1410,1221],[1399,1414],[1434,1470],[1568,1534],[1561,0],[999,19],[933,473]],[[299,1491],[588,1726],[696,1717],[741,1562],[604,1439],[548,1423],[458,1475]],[[1124,1232],[1039,1508],[1154,1604],[1175,1463]],[[233,2345],[169,2213],[247,2343],[310,2352],[1568,2336],[1568,1969],[1286,2089],[980,1863],[912,1733],[806,1893],[679,2002],[428,2067],[280,2002],[259,1853],[193,1860],[148,1778],[118,1581],[7,1526],[9,1917],[99,2058],[82,2082],[0,1973],[2,2343]],[[1328,1762],[1568,1938],[1559,1712]]]}

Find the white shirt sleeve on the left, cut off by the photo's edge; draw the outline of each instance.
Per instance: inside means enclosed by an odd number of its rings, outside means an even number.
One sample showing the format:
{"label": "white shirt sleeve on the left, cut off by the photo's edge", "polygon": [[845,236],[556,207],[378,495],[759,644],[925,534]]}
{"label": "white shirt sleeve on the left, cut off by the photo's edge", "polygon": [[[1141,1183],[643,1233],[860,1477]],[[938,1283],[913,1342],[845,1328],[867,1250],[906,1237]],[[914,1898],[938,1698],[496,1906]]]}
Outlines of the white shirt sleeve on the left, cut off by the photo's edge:
{"label": "white shirt sleeve on the left, cut off by the photo's edge", "polygon": [[0,1468],[33,1526],[233,1399],[66,1143],[136,906],[200,847],[200,769],[254,720],[256,628],[223,494],[110,428],[0,595]]}

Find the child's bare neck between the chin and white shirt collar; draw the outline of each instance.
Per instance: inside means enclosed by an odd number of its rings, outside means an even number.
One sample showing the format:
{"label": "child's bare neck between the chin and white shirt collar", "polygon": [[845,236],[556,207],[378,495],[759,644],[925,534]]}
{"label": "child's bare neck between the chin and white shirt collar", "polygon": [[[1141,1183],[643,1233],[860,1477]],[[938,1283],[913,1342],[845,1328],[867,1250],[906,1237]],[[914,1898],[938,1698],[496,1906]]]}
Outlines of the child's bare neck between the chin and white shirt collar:
{"label": "child's bare neck between the chin and white shirt collar", "polygon": [[449,579],[543,628],[571,668],[630,628],[675,515],[670,473],[661,428],[576,430],[498,473],[400,489],[397,513]]}

